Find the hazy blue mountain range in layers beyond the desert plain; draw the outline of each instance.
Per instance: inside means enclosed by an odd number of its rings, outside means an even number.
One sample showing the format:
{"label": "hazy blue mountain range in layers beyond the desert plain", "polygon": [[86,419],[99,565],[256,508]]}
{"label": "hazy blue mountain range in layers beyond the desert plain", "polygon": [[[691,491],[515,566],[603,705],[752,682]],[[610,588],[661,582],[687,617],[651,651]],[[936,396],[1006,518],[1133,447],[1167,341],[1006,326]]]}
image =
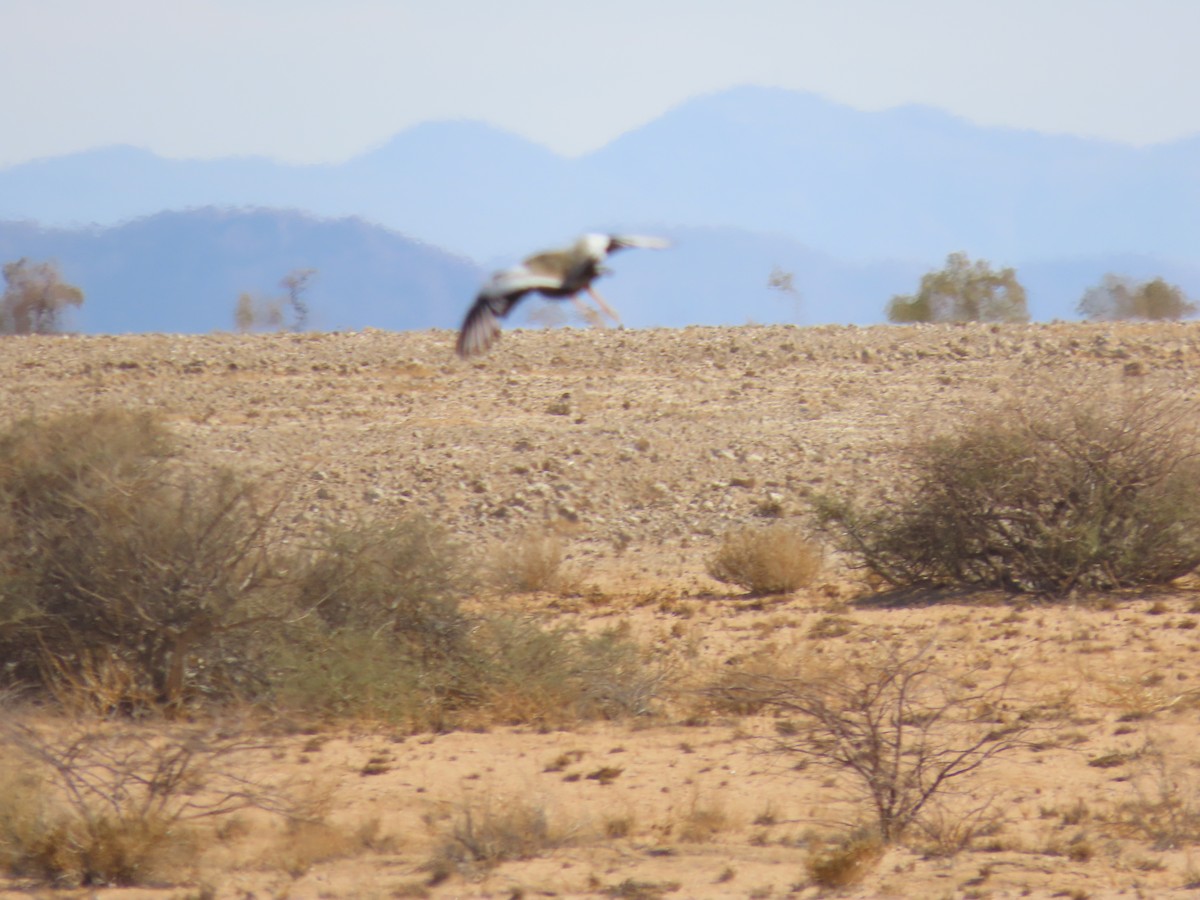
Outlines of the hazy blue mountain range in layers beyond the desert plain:
{"label": "hazy blue mountain range in layers beyond the desert plain", "polygon": [[677,242],[613,260],[601,290],[630,325],[877,322],[956,250],[1068,318],[1106,271],[1200,295],[1200,137],[1135,149],[740,88],[574,160],[472,122],[337,166],[108,148],[0,170],[0,257],[59,259],[95,331],[227,328],[240,292],[301,266],[314,326],[452,325],[485,269],[608,228]]}

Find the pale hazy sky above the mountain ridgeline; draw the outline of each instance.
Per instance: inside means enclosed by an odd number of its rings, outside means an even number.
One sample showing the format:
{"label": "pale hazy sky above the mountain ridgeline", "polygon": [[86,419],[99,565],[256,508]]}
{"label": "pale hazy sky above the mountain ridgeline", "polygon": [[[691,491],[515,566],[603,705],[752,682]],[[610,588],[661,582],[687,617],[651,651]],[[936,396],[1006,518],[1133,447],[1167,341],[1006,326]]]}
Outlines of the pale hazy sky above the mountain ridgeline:
{"label": "pale hazy sky above the mountain ridgeline", "polygon": [[1200,133],[1195,0],[0,0],[0,166],[108,144],[332,162],[455,118],[574,155],[736,84]]}

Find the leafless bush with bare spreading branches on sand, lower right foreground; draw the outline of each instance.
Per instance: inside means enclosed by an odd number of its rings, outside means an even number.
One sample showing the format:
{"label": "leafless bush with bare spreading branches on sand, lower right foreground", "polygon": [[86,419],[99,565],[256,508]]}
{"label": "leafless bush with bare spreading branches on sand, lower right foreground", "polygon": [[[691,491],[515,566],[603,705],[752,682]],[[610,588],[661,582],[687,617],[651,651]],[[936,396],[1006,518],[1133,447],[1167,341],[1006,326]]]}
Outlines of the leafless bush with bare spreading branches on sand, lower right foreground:
{"label": "leafless bush with bare spreading branches on sand, lower right foreground", "polygon": [[724,685],[779,719],[773,751],[845,779],[870,804],[887,842],[954,781],[1012,749],[1031,727],[1008,704],[1009,680],[983,666],[949,671],[932,646],[875,654],[796,676]]}

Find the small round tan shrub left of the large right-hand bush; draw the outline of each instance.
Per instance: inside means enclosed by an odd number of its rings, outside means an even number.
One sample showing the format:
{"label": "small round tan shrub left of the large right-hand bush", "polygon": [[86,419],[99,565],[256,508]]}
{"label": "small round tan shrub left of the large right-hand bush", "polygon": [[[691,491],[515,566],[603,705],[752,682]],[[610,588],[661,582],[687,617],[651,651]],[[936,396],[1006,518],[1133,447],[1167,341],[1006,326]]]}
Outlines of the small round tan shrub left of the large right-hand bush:
{"label": "small round tan shrub left of the large right-hand bush", "polygon": [[787,594],[810,584],[821,570],[821,553],[794,526],[730,532],[707,559],[709,576],[752,595]]}

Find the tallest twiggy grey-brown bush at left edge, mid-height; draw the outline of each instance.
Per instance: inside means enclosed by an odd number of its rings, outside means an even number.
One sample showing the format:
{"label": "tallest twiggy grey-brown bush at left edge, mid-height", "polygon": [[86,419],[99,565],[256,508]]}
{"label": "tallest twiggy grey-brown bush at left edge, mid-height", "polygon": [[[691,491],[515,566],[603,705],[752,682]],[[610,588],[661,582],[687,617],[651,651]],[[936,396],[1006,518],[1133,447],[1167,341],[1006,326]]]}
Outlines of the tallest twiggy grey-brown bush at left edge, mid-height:
{"label": "tallest twiggy grey-brown bush at left edge, mid-height", "polygon": [[0,436],[0,658],[12,684],[98,712],[178,709],[260,684],[271,510],[188,474],[146,414],[26,420]]}

